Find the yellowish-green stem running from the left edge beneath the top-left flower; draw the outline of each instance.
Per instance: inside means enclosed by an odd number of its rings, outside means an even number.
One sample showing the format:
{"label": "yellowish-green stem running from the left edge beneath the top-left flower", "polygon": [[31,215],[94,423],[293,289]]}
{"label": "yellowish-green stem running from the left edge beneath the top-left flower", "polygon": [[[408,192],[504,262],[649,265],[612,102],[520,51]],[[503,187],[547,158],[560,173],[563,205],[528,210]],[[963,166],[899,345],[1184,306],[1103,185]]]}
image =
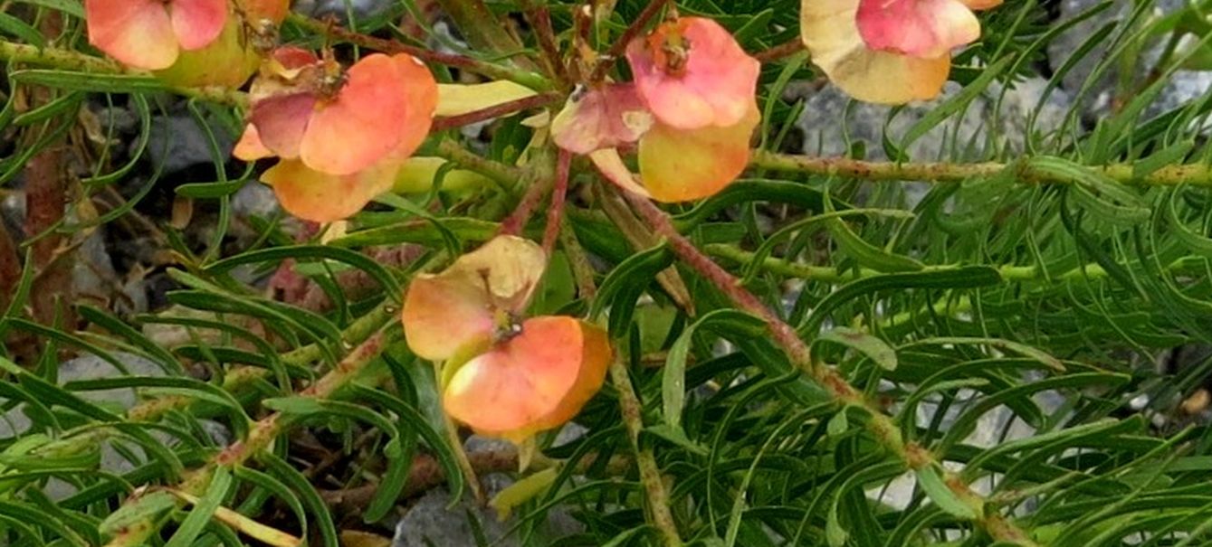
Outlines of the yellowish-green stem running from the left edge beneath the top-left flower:
{"label": "yellowish-green stem running from the left edge beneath the top-left flower", "polygon": [[[28,44],[16,44],[6,40],[0,40],[0,59],[88,74],[155,77],[152,73],[128,69],[112,61],[76,51],[55,47],[36,47]],[[178,87],[166,85],[164,88],[179,96],[193,97],[211,103],[228,104],[233,106],[245,106],[248,104],[248,97],[246,93],[228,87]]]}

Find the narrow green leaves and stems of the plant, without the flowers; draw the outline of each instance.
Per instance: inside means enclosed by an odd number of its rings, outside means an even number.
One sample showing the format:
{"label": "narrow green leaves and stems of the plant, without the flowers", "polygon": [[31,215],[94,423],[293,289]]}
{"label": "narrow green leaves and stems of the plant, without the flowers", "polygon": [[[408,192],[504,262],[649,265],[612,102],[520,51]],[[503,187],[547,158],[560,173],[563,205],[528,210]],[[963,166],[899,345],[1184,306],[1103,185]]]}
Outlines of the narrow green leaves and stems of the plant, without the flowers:
{"label": "narrow green leaves and stems of the plant, without the flowers", "polygon": [[[348,61],[377,36],[550,84],[533,16],[549,15],[562,48],[587,2],[401,0],[349,19],[354,4],[343,25],[291,16],[280,39]],[[648,6],[590,4],[613,5],[589,33],[600,51]],[[676,4],[751,53],[799,40],[793,0]],[[876,139],[851,134],[870,111],[856,102],[797,123],[825,104],[805,92],[821,74],[794,48],[764,59],[749,169],[663,208],[697,261],[574,161],[532,310],[607,327],[622,368],[571,441],[545,433],[468,455],[442,414],[441,376],[404,341],[401,295],[491,238],[543,184],[554,159],[522,157],[526,115],[436,127],[421,146],[451,162],[439,183],[479,173],[470,189],[389,195],[309,229],[238,211],[264,168],[229,159],[240,93],[118,69],[88,46],[79,0],[5,2],[0,182],[34,191],[38,159],[55,150],[79,177],[50,223],[27,219],[40,229],[0,246],[16,266],[0,271],[12,424],[0,537],[354,545],[354,531],[390,537],[430,490],[474,507],[474,468],[521,479],[494,502],[513,514],[498,545],[1207,545],[1212,437],[1199,393],[1212,358],[1165,364],[1212,345],[1212,94],[1164,100],[1207,68],[1206,2],[1091,1],[1068,18],[1056,4],[982,15],[957,85],[877,111]],[[514,36],[519,51],[501,51]],[[434,69],[439,82],[480,74]],[[1027,86],[1034,100],[1005,106]],[[558,110],[570,90],[551,90],[559,100],[541,106]],[[164,132],[184,131],[158,126],[170,115],[196,125],[210,165],[166,174],[175,133]],[[845,157],[788,155],[828,139]],[[522,234],[541,238],[541,217]],[[53,298],[69,287],[53,281],[62,266],[82,264],[81,246],[104,232],[152,235],[124,243],[152,247],[141,264],[119,266],[168,287],[162,301]],[[708,257],[736,280],[721,283]],[[737,301],[745,292],[810,362]],[[80,356],[115,372],[61,381]],[[128,372],[135,359],[153,367]],[[119,401],[131,392],[133,404]],[[574,531],[553,532],[555,513]],[[490,542],[478,511],[458,514]]]}

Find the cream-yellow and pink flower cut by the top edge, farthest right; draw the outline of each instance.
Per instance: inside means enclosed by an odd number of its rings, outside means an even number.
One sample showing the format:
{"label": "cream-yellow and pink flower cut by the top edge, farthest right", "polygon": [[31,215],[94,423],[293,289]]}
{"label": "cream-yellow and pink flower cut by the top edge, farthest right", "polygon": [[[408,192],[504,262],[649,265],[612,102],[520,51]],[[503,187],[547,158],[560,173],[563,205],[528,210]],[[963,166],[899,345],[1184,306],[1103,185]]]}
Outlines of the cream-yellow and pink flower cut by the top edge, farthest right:
{"label": "cream-yellow and pink flower cut by the top edge, farthest right", "polygon": [[981,38],[973,10],[1001,0],[802,0],[800,31],[812,62],[847,94],[871,103],[931,99],[951,50]]}

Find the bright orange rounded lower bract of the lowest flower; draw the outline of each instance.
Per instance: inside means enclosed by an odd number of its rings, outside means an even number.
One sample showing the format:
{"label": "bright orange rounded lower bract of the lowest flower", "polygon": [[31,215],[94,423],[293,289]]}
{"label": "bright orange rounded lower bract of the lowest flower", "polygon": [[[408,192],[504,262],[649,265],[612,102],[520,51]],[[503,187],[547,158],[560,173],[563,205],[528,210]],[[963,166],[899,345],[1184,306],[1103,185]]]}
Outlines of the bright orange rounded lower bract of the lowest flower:
{"label": "bright orange rounded lower bract of the lowest flower", "polygon": [[451,418],[521,443],[577,415],[601,388],[612,356],[606,334],[571,317],[537,317],[462,364],[442,390]]}

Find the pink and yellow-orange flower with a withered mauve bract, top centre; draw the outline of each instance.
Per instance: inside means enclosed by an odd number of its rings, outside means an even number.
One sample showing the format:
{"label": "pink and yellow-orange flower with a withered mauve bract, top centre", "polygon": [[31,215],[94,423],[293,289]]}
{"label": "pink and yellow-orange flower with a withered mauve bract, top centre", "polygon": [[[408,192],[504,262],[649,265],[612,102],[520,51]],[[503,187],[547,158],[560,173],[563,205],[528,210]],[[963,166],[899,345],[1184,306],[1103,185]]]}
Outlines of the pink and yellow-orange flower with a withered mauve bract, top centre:
{"label": "pink and yellow-orange flower with a withered mauve bract, top centre", "polygon": [[[758,71],[711,19],[685,17],[628,46],[634,84],[576,93],[555,119],[560,148],[584,154],[607,179],[662,202],[711,196],[749,163],[760,121]],[[636,178],[618,148],[639,143]]]}

